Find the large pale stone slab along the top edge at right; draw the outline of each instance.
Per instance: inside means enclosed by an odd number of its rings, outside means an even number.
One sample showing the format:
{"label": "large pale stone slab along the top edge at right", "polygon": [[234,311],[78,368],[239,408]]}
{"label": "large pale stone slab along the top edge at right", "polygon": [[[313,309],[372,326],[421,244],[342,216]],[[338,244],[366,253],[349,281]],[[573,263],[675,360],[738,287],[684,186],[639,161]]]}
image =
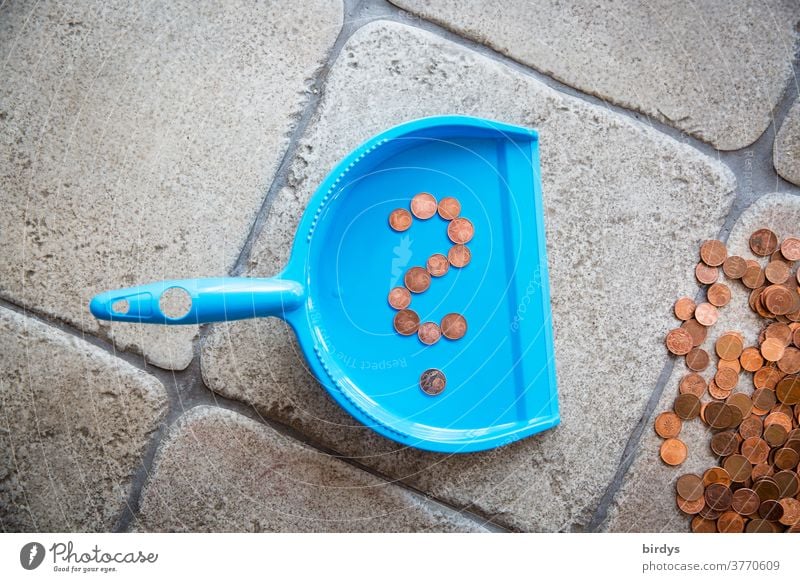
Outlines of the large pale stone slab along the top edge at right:
{"label": "large pale stone slab along the top edge at right", "polygon": [[794,0],[391,0],[722,150],[753,143],[791,75]]}

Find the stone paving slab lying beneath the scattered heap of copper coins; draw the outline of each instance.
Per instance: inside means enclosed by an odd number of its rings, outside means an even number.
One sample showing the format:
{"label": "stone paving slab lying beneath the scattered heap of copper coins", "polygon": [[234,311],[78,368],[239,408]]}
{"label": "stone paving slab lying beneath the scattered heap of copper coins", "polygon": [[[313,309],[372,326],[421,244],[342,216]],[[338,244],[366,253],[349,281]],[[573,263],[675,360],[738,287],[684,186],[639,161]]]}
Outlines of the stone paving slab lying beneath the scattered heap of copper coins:
{"label": "stone paving slab lying beneath the scattered heap of copper coins", "polygon": [[[800,234],[800,197],[767,194],[756,201],[743,212],[731,229],[728,237],[729,253],[746,259],[759,259],[750,252],[748,241],[754,231],[765,227],[774,230],[781,238]],[[695,260],[699,260],[696,253],[686,257],[689,263]],[[763,263],[763,259],[760,262]],[[731,288],[732,297],[731,303],[720,310],[720,318],[702,346],[709,353],[713,353],[717,337],[729,330],[742,332],[746,345],[756,345],[758,333],[765,325],[764,320],[748,306],[749,291],[744,285],[739,281],[728,281],[724,275],[721,280]],[[677,298],[676,294],[675,299]],[[665,308],[669,306],[665,305]],[[675,320],[675,323],[678,321]],[[678,383],[689,372],[683,360],[677,359],[664,394],[647,421],[636,459],[609,509],[606,523],[602,526],[606,531],[675,532],[689,529],[689,519],[675,508],[675,481],[684,473],[702,475],[706,469],[717,464],[709,446],[713,431],[708,430],[699,419],[684,423],[679,438],[688,445],[689,457],[683,465],[674,468],[659,460],[658,448],[662,440],[653,430],[655,416],[672,408],[672,402],[678,394]],[[716,363],[716,359],[713,361]],[[716,365],[709,366],[703,376],[708,380],[715,371]],[[743,372],[736,391],[751,394],[752,377],[752,374]],[[704,400],[711,399],[706,395]]]}

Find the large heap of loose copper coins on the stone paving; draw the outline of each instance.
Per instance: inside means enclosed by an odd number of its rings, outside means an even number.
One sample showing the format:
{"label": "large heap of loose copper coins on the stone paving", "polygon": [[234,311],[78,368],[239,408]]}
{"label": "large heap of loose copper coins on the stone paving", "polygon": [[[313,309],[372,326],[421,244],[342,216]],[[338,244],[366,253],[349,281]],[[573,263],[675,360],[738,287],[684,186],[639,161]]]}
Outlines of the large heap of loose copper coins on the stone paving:
{"label": "large heap of loose copper coins on the stone paving", "polygon": [[[706,301],[678,299],[675,316],[683,323],[666,338],[667,349],[683,356],[691,372],[681,379],[672,410],[655,420],[664,439],[661,459],[668,465],[686,460],[678,436],[683,422],[695,418],[710,429],[709,446],[719,457],[703,475],[677,480],[677,505],[692,516],[694,532],[800,532],[800,239],[779,242],[762,228],[750,237],[750,249],[767,264],[728,256],[718,240],[702,244],[695,275],[709,285]],[[731,289],[717,280],[720,269],[746,288],[765,326],[753,346],[738,331],[721,334],[716,370],[706,381],[701,372],[712,355],[700,346],[718,308],[731,299]]]}

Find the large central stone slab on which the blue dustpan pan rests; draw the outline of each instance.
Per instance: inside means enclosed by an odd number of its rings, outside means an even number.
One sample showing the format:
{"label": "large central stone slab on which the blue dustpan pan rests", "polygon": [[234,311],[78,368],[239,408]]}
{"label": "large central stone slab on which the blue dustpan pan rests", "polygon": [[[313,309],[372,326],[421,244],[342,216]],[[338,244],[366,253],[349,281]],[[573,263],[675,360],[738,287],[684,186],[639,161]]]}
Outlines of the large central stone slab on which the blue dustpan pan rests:
{"label": "large central stone slab on which the blue dustpan pan rests", "polygon": [[403,448],[341,411],[274,319],[215,326],[202,347],[203,376],[218,393],[495,523],[580,531],[666,360],[673,322],[665,306],[696,290],[687,257],[721,227],[734,178],[627,117],[427,32],[376,22],[334,63],[249,274],[280,270],[308,198],[338,159],[386,127],[443,113],[540,131],[562,424],[484,453]]}

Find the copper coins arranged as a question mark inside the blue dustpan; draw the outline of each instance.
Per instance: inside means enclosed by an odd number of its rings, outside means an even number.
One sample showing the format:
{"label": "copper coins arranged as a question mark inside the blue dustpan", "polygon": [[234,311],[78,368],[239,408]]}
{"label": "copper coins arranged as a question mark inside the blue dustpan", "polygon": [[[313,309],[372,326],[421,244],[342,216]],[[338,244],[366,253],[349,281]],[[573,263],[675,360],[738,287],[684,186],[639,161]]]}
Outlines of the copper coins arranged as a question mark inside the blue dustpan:
{"label": "copper coins arranged as a question mark inside the blue dustpan", "polygon": [[[412,293],[424,293],[431,286],[431,277],[442,277],[450,267],[461,269],[466,267],[472,254],[467,243],[472,240],[475,229],[472,223],[459,216],[461,203],[452,197],[442,198],[439,202],[432,194],[420,192],[411,199],[411,212],[405,208],[397,208],[389,214],[389,226],[393,230],[403,232],[411,228],[412,214],[419,220],[428,220],[437,212],[447,221],[447,237],[453,243],[447,255],[434,253],[425,267],[411,267],[403,277],[403,287],[395,287],[389,291],[389,305],[397,309],[394,316],[394,329],[400,335],[416,334],[425,345],[433,345],[444,336],[449,340],[458,340],[467,333],[467,320],[460,313],[448,313],[441,323],[425,321],[420,323],[419,315],[409,307]],[[425,370],[419,379],[419,385],[425,394],[437,396],[444,391],[447,379],[441,370],[430,368]]]}

